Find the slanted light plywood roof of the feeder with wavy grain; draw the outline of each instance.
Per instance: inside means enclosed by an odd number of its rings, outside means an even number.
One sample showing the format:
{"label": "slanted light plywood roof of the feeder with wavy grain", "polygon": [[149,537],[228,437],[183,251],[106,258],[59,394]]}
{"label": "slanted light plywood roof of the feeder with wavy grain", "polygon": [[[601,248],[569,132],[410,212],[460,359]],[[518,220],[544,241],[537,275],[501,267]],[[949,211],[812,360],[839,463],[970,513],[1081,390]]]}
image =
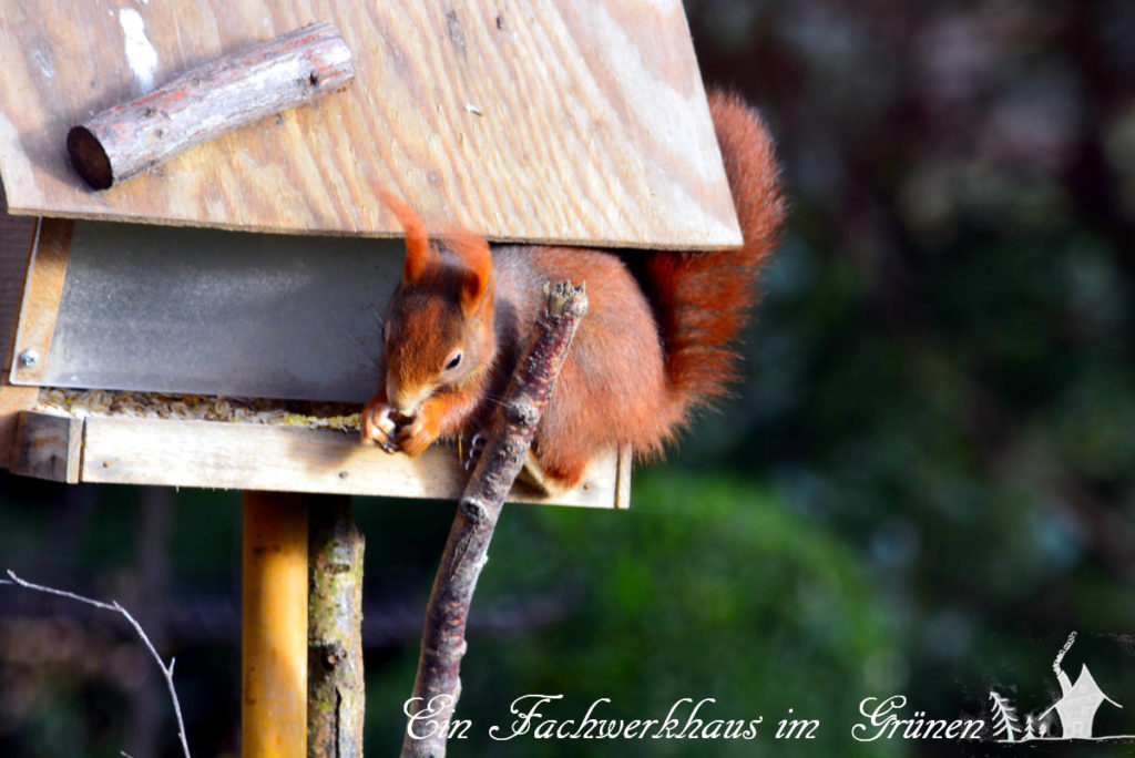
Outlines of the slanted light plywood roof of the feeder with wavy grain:
{"label": "slanted light plywood roof of the feeder with wavy grain", "polygon": [[[0,5],[0,175],[16,212],[396,234],[378,182],[432,226],[498,241],[740,242],[679,0],[117,5]],[[107,192],[68,165],[73,124],[317,19],[355,56],[342,95]]]}

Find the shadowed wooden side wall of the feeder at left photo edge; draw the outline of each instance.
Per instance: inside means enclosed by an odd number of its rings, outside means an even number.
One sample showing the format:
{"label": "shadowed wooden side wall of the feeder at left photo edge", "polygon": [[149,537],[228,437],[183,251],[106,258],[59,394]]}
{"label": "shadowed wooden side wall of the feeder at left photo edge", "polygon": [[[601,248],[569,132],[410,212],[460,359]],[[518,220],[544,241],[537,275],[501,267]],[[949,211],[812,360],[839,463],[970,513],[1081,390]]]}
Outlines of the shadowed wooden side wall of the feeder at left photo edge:
{"label": "shadowed wooden side wall of the feeder at left photo edge", "polygon": [[39,389],[8,381],[24,277],[35,219],[8,216],[0,193],[0,469],[11,464],[19,412],[35,405]]}

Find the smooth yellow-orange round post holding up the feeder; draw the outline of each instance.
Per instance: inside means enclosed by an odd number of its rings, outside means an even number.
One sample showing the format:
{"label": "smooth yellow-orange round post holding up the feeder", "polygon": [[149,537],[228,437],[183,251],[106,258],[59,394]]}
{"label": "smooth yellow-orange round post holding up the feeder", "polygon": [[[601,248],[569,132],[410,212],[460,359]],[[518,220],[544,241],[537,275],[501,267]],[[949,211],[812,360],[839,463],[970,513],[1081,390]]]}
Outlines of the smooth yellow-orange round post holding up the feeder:
{"label": "smooth yellow-orange round post holding up the feeder", "polygon": [[244,495],[241,751],[308,753],[308,505]]}

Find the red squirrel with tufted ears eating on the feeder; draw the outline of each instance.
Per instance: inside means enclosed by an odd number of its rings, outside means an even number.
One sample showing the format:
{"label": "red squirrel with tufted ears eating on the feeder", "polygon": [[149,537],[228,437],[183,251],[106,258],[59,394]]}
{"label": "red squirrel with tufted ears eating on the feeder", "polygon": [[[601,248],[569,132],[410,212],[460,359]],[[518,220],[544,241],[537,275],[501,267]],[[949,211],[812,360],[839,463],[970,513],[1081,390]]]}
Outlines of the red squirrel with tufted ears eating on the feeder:
{"label": "red squirrel with tufted ears eating on the feeder", "polygon": [[439,436],[487,426],[533,336],[547,281],[587,283],[588,312],[536,431],[529,463],[549,489],[575,487],[600,450],[658,455],[690,412],[737,379],[729,344],[756,300],[784,214],[772,140],[740,99],[709,95],[743,245],[651,252],[634,263],[598,250],[494,245],[470,231],[427,237],[388,192],[406,236],[402,283],[384,323],[382,377],[362,440],[415,456]]}

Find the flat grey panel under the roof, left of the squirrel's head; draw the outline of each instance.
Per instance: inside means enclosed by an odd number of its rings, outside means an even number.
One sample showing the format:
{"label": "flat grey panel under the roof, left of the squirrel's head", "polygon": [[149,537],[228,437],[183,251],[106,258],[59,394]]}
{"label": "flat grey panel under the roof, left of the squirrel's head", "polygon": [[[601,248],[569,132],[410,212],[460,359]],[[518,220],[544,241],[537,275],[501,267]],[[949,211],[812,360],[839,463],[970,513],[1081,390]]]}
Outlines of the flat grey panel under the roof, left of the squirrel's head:
{"label": "flat grey panel under the roof, left of the squirrel's head", "polygon": [[402,250],[76,222],[43,384],[365,402]]}

